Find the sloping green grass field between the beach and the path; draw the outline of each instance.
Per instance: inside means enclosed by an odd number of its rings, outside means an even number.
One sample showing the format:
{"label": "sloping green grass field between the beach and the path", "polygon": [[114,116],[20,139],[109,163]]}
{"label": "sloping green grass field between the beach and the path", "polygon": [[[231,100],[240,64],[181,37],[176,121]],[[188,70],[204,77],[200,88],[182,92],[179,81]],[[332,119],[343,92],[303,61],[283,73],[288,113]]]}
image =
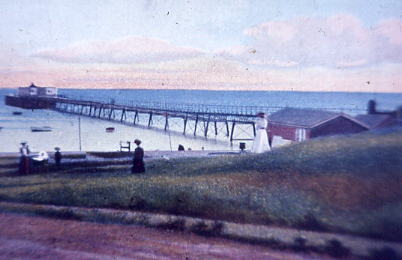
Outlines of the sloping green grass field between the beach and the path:
{"label": "sloping green grass field between the beach and the path", "polygon": [[316,139],[260,155],[0,177],[0,199],[110,207],[402,238],[402,131]]}

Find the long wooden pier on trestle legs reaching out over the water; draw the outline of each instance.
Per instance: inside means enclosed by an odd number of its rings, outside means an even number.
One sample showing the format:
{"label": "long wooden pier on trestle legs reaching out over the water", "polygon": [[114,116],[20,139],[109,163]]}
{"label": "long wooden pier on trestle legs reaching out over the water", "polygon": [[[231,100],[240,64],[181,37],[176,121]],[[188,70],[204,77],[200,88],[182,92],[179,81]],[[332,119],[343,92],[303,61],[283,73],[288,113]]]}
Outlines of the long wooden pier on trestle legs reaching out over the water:
{"label": "long wooden pier on trestle legs reaching out over the water", "polygon": [[[233,141],[252,140],[256,134],[255,115],[274,107],[223,106],[166,103],[126,103],[89,101],[60,97],[8,97],[6,104],[23,108],[46,108],[125,125],[141,126],[205,138],[224,136]],[[23,106],[21,104],[24,104]],[[40,106],[35,107],[40,104]],[[157,122],[157,123],[155,123]],[[175,127],[171,127],[174,123]]]}

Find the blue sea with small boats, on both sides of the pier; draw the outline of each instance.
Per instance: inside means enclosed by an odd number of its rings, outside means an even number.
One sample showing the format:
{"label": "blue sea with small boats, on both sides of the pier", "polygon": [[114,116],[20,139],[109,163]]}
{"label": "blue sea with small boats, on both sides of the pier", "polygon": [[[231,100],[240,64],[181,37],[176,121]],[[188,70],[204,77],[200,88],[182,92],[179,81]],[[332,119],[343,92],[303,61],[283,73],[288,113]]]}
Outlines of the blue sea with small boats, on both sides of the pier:
{"label": "blue sea with small boats, on both sides of the pier", "polygon": [[[194,136],[191,132],[194,126],[191,125],[189,134],[183,135],[183,123],[179,119],[172,120],[172,131],[165,132],[163,127],[158,127],[158,124],[163,125],[163,119],[157,118],[155,127],[148,129],[146,118],[140,118],[140,126],[132,126],[53,110],[6,106],[4,97],[15,94],[16,91],[13,88],[0,88],[0,152],[18,152],[22,141],[28,142],[32,151],[53,151],[55,147],[60,147],[62,151],[118,151],[120,142],[132,142],[136,138],[141,139],[142,146],[149,151],[177,150],[179,144],[192,150],[239,149],[238,142],[231,143],[226,134],[222,134],[226,131],[224,126],[218,126],[220,134],[217,136],[210,134],[205,138],[202,134]],[[366,113],[369,100],[377,102],[378,110],[394,110],[402,105],[402,93],[58,89],[58,94],[74,99],[116,104],[257,106],[269,108],[268,112],[284,107],[297,107],[342,111],[352,116]],[[14,112],[17,111],[22,114],[15,115]],[[52,131],[31,132],[31,127],[41,126],[50,126]],[[114,127],[115,131],[106,132],[107,127]],[[241,132],[249,133],[250,129],[244,126],[237,131],[241,135]],[[246,141],[246,147],[251,147],[251,141]]]}

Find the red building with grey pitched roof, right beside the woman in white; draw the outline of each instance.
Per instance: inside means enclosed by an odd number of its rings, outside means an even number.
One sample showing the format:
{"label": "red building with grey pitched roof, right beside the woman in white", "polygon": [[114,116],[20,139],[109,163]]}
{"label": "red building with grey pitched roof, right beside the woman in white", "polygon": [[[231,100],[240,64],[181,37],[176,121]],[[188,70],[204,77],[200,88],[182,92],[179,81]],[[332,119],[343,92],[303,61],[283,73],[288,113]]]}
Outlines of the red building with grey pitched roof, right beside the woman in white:
{"label": "red building with grey pitched roof, right beside the woman in white", "polygon": [[314,109],[285,108],[268,118],[268,135],[291,141],[319,136],[359,133],[369,129],[365,123],[344,113]]}

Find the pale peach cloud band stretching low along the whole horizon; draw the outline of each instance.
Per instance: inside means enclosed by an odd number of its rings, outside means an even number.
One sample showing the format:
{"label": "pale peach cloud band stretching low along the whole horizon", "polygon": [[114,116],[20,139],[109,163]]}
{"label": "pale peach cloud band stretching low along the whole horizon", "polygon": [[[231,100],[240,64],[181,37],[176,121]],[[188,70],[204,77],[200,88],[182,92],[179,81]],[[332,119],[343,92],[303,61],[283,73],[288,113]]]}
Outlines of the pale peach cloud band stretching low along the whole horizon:
{"label": "pale peach cloud band stretching low along the whole horizon", "polygon": [[[352,70],[336,68],[250,69],[237,63],[194,58],[151,64],[52,64],[25,70],[2,71],[0,88],[40,86],[59,88],[210,89],[363,91],[402,90],[402,64],[384,64]],[[171,64],[176,63],[176,64]],[[172,68],[180,68],[175,70]],[[369,83],[367,83],[369,82]]]}

